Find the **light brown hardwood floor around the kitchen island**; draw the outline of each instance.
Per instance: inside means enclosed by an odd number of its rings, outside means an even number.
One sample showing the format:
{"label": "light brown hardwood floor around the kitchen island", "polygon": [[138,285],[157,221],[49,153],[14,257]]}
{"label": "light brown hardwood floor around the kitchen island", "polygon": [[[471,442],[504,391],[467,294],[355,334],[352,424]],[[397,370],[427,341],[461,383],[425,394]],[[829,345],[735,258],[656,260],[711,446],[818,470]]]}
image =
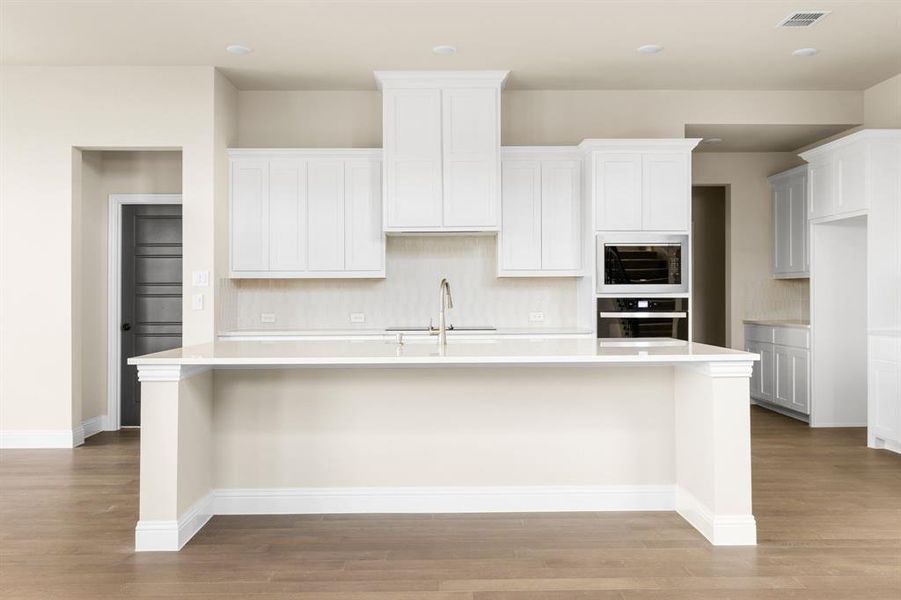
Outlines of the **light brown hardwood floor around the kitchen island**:
{"label": "light brown hardwood floor around the kitchen island", "polygon": [[753,409],[760,544],[674,513],[215,517],[132,552],[138,438],[0,455],[0,597],[901,599],[901,456]]}

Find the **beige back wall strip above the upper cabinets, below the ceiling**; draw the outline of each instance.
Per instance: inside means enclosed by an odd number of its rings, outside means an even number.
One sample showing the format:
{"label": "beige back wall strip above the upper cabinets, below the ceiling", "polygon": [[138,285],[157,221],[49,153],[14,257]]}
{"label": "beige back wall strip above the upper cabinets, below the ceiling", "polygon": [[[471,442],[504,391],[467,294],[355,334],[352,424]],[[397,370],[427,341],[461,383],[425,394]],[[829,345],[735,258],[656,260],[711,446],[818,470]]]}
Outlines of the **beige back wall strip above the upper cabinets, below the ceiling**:
{"label": "beige back wall strip above the upper cabinets, below the ceiling", "polygon": [[[863,121],[860,92],[506,91],[502,142],[577,144],[591,137],[683,137],[686,123],[832,124]],[[243,147],[381,147],[377,91],[240,91]]]}

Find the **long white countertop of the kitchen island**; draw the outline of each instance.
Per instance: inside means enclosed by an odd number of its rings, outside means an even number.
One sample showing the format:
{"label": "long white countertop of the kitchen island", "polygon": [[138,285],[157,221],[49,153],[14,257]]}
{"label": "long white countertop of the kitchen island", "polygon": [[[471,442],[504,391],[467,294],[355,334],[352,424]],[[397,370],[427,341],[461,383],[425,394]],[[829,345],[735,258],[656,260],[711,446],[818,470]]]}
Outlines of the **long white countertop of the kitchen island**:
{"label": "long white countertop of the kitchen island", "polygon": [[749,362],[756,354],[658,338],[457,339],[443,349],[434,338],[404,345],[383,340],[218,341],[130,358],[132,365],[375,366],[519,364],[678,364]]}

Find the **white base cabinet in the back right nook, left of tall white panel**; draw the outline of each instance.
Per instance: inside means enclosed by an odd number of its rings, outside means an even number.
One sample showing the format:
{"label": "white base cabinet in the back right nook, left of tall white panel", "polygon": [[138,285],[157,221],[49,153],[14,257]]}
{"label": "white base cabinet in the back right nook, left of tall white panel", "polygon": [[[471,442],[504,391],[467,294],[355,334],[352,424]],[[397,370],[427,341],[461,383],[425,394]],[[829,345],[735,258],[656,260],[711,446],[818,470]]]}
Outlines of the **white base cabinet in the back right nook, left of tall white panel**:
{"label": "white base cabinet in the back right nook, left of tall white panel", "polygon": [[753,400],[810,414],[809,339],[807,329],[745,324],[745,350],[760,355],[751,374]]}

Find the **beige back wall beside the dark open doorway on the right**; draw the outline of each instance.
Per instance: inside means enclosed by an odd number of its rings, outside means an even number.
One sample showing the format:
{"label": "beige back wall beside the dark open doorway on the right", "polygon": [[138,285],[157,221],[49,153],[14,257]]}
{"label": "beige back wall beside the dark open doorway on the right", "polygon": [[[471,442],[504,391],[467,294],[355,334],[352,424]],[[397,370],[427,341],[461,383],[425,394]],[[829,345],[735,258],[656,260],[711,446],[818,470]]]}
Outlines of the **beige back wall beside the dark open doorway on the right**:
{"label": "beige back wall beside the dark open doorway on the right", "polygon": [[806,279],[773,279],[773,209],[766,178],[804,164],[789,152],[695,153],[692,183],[726,185],[729,201],[727,343],[744,346],[742,319],[805,319]]}

